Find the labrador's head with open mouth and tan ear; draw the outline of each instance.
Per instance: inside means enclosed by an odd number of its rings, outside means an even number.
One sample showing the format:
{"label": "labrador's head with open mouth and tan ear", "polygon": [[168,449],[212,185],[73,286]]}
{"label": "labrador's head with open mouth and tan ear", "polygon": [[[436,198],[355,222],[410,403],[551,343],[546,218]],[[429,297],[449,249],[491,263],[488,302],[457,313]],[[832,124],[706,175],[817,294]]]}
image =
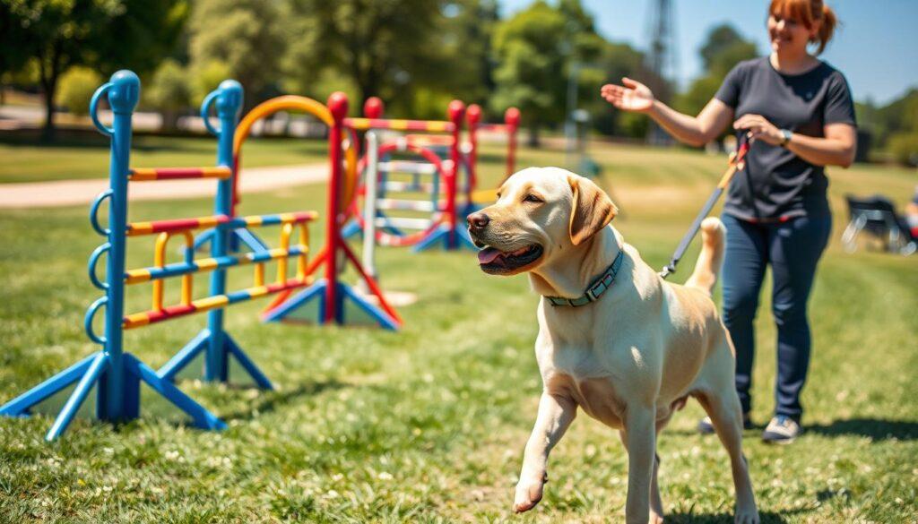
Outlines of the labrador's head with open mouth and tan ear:
{"label": "labrador's head with open mouth and tan ear", "polygon": [[618,208],[587,178],[554,167],[507,179],[498,201],[468,216],[482,271],[511,275],[550,263],[605,228]]}

